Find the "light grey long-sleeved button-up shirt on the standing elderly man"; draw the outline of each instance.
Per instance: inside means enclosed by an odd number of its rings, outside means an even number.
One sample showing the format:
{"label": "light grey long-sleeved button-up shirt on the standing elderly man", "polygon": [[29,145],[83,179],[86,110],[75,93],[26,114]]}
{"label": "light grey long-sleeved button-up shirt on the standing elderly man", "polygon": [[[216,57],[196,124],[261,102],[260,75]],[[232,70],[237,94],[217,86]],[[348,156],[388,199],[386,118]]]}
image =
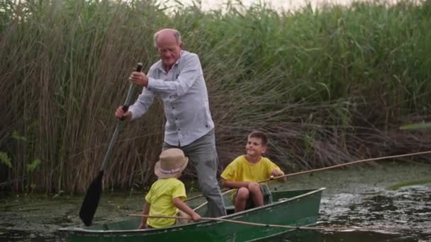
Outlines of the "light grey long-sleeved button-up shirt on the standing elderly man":
{"label": "light grey long-sleeved button-up shirt on the standing elderly man", "polygon": [[159,60],[152,65],[147,76],[147,87],[129,108],[132,120],[144,115],[155,96],[159,96],[167,120],[164,126],[164,142],[167,144],[185,146],[214,128],[197,54],[181,51],[181,57],[168,72],[164,71]]}

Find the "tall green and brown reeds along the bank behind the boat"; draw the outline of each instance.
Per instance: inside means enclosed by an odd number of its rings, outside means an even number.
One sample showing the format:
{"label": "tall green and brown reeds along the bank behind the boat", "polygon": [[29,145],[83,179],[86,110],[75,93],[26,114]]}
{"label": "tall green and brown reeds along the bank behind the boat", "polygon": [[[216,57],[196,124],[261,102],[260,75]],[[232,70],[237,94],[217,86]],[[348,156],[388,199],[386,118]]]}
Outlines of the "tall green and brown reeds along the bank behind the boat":
{"label": "tall green and brown reeds along the bank behind the boat", "polygon": [[[220,169],[247,134],[269,134],[288,172],[431,148],[431,2],[264,5],[222,11],[154,1],[1,1],[0,182],[26,192],[84,192],[101,166],[137,62],[157,60],[152,34],[181,31],[201,58]],[[138,93],[137,93],[138,94]],[[106,190],[145,187],[162,146],[156,101],[126,125]],[[9,163],[7,162],[9,159]],[[187,175],[194,177],[190,168]]]}

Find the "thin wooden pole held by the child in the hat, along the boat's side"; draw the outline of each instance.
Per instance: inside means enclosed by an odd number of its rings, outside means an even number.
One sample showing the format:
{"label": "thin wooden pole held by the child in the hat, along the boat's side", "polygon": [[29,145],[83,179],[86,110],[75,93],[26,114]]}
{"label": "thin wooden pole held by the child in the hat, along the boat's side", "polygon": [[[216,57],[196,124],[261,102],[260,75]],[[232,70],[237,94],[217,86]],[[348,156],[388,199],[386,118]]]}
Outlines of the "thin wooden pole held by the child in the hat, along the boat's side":
{"label": "thin wooden pole held by the child in the hat, along the boat's side", "polygon": [[[130,217],[147,217],[147,218],[159,218],[159,219],[188,219],[187,217],[174,217],[174,216],[162,216],[162,215],[144,215],[144,214],[129,214]],[[283,228],[283,229],[310,229],[310,230],[345,230],[345,229],[353,229],[353,230],[422,230],[408,227],[312,227],[312,226],[290,226],[290,225],[281,225],[281,224],[261,224],[261,223],[252,223],[247,221],[237,221],[233,219],[221,219],[221,218],[209,218],[209,217],[201,217],[203,221],[225,221],[228,223],[234,224],[244,224],[250,226],[261,226],[261,227],[274,227],[274,228]]]}

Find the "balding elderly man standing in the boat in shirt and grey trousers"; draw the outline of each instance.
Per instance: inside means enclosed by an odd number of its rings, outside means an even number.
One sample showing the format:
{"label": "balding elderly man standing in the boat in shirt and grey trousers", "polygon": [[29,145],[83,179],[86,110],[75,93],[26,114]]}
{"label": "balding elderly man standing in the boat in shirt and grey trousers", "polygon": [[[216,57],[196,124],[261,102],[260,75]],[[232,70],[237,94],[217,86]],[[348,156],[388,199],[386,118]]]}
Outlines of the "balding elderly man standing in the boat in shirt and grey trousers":
{"label": "balding elderly man standing in the boat in shirt and grey trousers", "polygon": [[163,149],[179,148],[189,156],[198,173],[199,188],[208,200],[208,216],[223,216],[226,211],[216,176],[214,122],[201,62],[197,54],[182,50],[178,30],[160,30],[154,35],[154,43],[160,60],[147,75],[133,71],[130,81],[144,88],[127,112],[122,106],[117,108],[116,117],[125,120],[141,117],[158,95],[167,120]]}

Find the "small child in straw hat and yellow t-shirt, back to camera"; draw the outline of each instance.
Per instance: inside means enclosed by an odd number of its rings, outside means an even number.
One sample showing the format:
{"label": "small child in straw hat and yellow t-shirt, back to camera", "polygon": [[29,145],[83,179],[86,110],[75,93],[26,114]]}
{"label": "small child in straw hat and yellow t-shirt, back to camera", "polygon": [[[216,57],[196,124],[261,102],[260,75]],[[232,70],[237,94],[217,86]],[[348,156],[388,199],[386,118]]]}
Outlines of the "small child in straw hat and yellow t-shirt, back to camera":
{"label": "small child in straw hat and yellow t-shirt, back to camera", "polygon": [[[159,178],[152,183],[150,191],[145,196],[144,215],[176,216],[182,211],[193,221],[199,221],[201,216],[183,202],[186,199],[186,188],[178,178],[189,163],[181,149],[165,149],[155,164],[154,172]],[[163,228],[172,226],[175,219],[142,217],[138,229]]]}

